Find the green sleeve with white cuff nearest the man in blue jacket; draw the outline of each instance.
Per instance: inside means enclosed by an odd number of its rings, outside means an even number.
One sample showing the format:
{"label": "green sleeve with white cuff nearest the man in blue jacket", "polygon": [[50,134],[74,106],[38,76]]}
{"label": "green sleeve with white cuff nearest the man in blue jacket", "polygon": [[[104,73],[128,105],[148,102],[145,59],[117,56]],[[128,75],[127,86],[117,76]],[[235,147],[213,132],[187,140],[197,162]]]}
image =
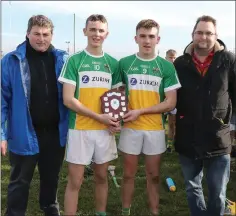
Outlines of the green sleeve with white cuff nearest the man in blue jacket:
{"label": "green sleeve with white cuff nearest the man in blue jacket", "polygon": [[58,81],[61,83],[69,83],[76,86],[77,76],[78,73],[76,70],[75,61],[72,56],[69,57],[65,62]]}

